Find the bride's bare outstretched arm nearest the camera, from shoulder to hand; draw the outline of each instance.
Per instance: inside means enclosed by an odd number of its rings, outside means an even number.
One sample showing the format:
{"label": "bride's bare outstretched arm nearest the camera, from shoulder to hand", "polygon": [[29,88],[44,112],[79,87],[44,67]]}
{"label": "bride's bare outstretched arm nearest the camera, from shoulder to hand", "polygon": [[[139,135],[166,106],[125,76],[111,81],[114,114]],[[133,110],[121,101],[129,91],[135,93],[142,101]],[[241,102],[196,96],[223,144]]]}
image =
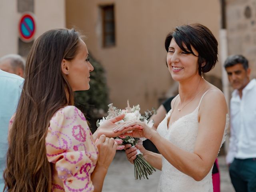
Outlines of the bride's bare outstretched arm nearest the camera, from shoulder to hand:
{"label": "bride's bare outstretched arm nearest the camera, from shoulder to hand", "polygon": [[[196,181],[202,180],[212,168],[217,157],[228,112],[226,100],[220,90],[210,90],[204,96],[199,110],[199,128],[194,152],[187,152],[166,140],[158,132],[144,126],[141,132],[135,131],[130,136],[146,137],[158,148],[158,151],[175,168],[191,176]],[[130,124],[132,126],[133,124]],[[129,134],[126,134],[129,135]]]}

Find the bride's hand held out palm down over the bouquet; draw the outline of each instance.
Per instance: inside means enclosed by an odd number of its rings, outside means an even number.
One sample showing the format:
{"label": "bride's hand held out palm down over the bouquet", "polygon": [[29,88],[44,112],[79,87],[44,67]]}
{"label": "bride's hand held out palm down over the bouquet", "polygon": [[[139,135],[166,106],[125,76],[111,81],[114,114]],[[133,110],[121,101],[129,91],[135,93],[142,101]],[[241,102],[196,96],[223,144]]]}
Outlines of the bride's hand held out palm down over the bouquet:
{"label": "bride's hand held out palm down over the bouquet", "polygon": [[119,128],[114,128],[114,132],[123,132],[124,130],[131,129],[132,132],[124,133],[124,136],[131,136],[136,138],[142,138],[145,137],[147,139],[151,139],[154,130],[152,128],[148,127],[144,122],[141,121],[133,121],[128,122],[128,124],[123,125]]}

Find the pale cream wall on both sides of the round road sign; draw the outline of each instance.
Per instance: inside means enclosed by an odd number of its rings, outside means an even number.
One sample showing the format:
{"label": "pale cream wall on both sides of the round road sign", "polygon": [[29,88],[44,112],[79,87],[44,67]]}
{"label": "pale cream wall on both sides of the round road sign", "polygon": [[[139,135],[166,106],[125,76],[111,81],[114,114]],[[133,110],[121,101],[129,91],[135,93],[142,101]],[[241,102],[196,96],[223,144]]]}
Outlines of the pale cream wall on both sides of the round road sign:
{"label": "pale cream wall on both sides of the round road sign", "polygon": [[[53,28],[66,27],[65,0],[34,0],[36,35]],[[0,0],[0,57],[18,53],[18,13],[17,0]]]}

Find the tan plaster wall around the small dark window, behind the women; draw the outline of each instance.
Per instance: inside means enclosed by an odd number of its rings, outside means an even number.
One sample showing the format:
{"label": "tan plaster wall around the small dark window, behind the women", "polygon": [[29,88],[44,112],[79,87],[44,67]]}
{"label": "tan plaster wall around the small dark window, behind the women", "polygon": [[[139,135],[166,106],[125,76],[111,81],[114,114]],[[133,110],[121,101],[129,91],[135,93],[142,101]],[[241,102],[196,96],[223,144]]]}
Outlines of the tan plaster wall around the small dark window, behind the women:
{"label": "tan plaster wall around the small dark window, behind the women", "polygon": [[[100,5],[115,4],[116,46],[102,48]],[[142,112],[158,107],[173,80],[165,66],[166,34],[180,24],[200,22],[216,38],[220,26],[219,1],[66,0],[66,26],[85,32],[90,53],[104,66],[110,99],[124,108],[140,104]],[[209,74],[221,77],[221,69]]]}

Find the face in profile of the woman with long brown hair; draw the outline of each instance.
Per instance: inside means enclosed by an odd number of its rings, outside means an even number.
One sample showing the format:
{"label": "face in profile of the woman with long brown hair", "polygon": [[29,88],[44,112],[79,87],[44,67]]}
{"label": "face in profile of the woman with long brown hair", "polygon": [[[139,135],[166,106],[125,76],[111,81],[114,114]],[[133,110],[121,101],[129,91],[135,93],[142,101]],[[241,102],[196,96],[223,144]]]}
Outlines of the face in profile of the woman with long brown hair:
{"label": "face in profile of the woman with long brown hair", "polygon": [[67,75],[68,82],[73,91],[88,90],[90,88],[90,72],[94,70],[89,62],[89,53],[86,44],[80,40],[75,58],[69,62]]}

